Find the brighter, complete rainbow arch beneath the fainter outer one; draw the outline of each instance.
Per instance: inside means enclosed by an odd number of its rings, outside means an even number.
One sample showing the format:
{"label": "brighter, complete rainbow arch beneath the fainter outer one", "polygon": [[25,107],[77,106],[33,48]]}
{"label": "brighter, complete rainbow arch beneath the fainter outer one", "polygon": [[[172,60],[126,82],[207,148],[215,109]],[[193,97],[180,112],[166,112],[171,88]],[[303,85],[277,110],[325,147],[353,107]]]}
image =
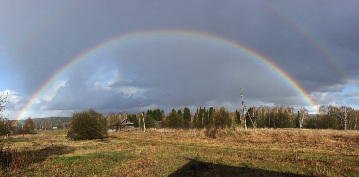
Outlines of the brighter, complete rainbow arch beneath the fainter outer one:
{"label": "brighter, complete rainbow arch beneath the fainter outer one", "polygon": [[104,41],[101,44],[92,47],[91,49],[85,51],[84,53],[76,56],[74,59],[72,59],[69,63],[64,65],[59,71],[57,71],[55,74],[53,74],[52,77],[50,77],[41,87],[40,89],[31,97],[31,99],[28,101],[28,103],[24,106],[22,111],[18,114],[17,119],[21,119],[27,110],[31,108],[31,106],[34,104],[35,100],[53,83],[56,81],[56,79],[61,76],[64,72],[66,72],[68,69],[79,63],[81,60],[87,58],[88,56],[94,54],[95,52],[99,51],[100,49],[103,49],[104,47],[110,46],[116,42],[120,41],[126,41],[134,39],[135,37],[171,37],[171,36],[180,36],[180,37],[191,37],[197,40],[210,40],[216,43],[229,45],[234,47],[235,49],[242,51],[243,53],[246,53],[253,58],[257,59],[267,67],[269,67],[271,70],[275,71],[280,77],[282,77],[289,85],[291,85],[300,95],[303,96],[303,98],[306,100],[306,102],[313,108],[314,112],[316,112],[316,104],[314,101],[309,97],[307,92],[301,87],[289,74],[287,74],[283,69],[275,65],[271,60],[265,58],[263,55],[255,52],[254,50],[249,49],[248,47],[238,44],[234,41],[230,41],[228,39],[209,35],[206,33],[200,33],[200,32],[194,32],[194,31],[180,31],[180,30],[160,30],[160,31],[137,31],[133,33],[128,33],[125,35],[117,36],[114,38],[111,38],[110,40]]}

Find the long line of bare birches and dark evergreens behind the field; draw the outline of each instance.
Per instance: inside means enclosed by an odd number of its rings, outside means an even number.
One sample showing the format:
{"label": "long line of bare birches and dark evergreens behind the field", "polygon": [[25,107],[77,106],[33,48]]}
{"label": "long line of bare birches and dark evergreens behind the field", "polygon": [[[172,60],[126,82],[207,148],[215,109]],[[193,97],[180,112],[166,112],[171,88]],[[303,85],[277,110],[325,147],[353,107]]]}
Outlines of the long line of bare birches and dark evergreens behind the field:
{"label": "long line of bare birches and dark evergreens behind the field", "polygon": [[[248,116],[248,114],[250,116]],[[307,128],[307,129],[336,129],[336,130],[358,130],[359,110],[350,106],[321,106],[317,115],[309,115],[308,110],[301,108],[298,112],[294,112],[291,106],[252,106],[248,108],[248,113],[243,115],[242,109],[235,112],[229,112],[228,109],[221,107],[200,107],[195,112],[187,107],[184,109],[172,109],[170,113],[165,115],[164,110],[150,109],[143,113],[145,126],[148,128],[207,128],[210,125],[220,127],[242,126],[246,122],[247,127],[257,128]],[[139,121],[142,121],[141,113],[128,114],[119,112],[117,114],[111,112],[105,117],[107,120],[106,129],[117,129],[118,124],[127,118],[139,127]],[[250,120],[252,118],[252,121]],[[29,118],[28,118],[29,119]],[[31,119],[31,118],[30,118]],[[33,129],[38,130],[43,127],[57,127],[59,129],[69,128],[71,117],[47,117],[32,119]],[[252,123],[253,122],[253,123]],[[22,127],[26,123],[26,119],[1,120],[1,135],[6,132]],[[142,123],[141,123],[142,124]]]}

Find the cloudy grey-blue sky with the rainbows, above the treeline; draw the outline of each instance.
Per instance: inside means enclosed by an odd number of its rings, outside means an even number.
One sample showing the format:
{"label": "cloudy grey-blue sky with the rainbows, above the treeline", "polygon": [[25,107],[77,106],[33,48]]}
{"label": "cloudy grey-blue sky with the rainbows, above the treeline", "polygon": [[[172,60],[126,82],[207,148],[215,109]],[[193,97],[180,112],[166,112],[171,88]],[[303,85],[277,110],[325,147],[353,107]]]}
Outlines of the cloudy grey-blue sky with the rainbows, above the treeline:
{"label": "cloudy grey-blue sky with the rainbows, above the treeline", "polygon": [[359,109],[359,1],[0,0],[5,117]]}

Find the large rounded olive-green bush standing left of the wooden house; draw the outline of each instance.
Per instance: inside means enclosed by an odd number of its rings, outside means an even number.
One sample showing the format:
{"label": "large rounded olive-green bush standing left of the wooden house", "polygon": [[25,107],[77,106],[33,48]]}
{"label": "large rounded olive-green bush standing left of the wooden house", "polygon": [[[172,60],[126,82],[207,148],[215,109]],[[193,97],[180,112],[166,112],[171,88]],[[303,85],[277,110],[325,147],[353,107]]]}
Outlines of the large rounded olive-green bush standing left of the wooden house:
{"label": "large rounded olive-green bush standing left of the wooden house", "polygon": [[72,140],[93,140],[107,137],[106,119],[93,109],[75,112],[71,117],[67,138]]}

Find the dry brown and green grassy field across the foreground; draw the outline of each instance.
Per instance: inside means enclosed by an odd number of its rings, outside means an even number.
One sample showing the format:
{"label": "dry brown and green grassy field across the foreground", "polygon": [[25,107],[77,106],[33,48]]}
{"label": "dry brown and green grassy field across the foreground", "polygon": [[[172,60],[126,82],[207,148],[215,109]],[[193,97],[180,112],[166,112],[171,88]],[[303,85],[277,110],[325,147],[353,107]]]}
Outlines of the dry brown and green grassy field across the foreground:
{"label": "dry brown and green grassy field across the foreground", "polygon": [[13,136],[33,156],[0,176],[358,176],[359,131],[149,129],[71,141],[63,131]]}

